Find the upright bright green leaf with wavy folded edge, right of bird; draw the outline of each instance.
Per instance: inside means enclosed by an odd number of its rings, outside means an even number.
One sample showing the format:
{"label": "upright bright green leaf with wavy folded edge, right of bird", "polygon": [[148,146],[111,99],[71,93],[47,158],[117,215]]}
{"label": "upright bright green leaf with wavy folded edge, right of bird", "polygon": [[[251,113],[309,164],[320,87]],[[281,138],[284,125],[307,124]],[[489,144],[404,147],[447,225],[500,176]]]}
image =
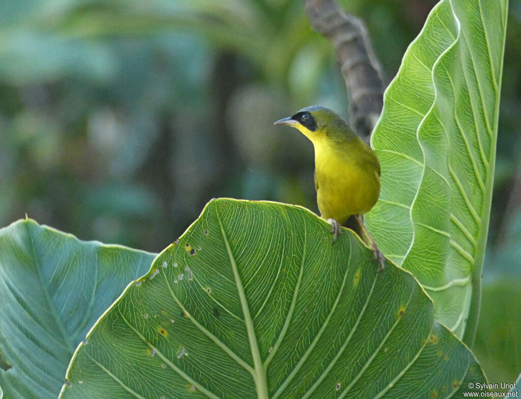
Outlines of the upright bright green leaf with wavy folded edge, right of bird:
{"label": "upright bright green leaf with wavy folded edge, right of bird", "polygon": [[[507,0],[442,0],[384,96],[367,225],[472,345],[489,224]],[[467,320],[468,315],[468,320]],[[466,330],[467,328],[467,330]]]}

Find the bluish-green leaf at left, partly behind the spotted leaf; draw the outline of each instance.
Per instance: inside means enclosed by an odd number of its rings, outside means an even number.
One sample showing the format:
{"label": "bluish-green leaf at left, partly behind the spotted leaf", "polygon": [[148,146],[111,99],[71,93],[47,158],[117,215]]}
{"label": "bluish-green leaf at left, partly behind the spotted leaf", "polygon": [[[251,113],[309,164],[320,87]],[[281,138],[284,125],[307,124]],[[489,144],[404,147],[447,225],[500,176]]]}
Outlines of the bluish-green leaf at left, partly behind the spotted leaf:
{"label": "bluish-green leaf at left, partly behind the spotted leaf", "polygon": [[153,254],[18,221],[0,230],[0,369],[8,399],[55,399],[73,352]]}

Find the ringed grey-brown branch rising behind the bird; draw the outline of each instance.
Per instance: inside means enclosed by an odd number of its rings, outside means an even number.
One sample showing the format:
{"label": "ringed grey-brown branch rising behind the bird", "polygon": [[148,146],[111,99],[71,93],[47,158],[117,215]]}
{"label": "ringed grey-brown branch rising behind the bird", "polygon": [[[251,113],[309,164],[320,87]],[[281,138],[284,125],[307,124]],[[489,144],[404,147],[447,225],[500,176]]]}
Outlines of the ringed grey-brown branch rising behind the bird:
{"label": "ringed grey-brown branch rising behind the bird", "polygon": [[336,0],[306,0],[305,10],[312,28],[337,52],[354,128],[368,143],[382,110],[384,85],[365,25],[346,14]]}

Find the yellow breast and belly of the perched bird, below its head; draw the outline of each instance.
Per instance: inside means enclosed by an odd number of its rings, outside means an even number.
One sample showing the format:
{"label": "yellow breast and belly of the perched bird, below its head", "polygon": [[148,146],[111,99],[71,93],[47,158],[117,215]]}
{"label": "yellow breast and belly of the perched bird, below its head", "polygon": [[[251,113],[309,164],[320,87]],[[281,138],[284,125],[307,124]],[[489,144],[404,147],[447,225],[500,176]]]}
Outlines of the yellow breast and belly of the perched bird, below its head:
{"label": "yellow breast and belly of the perched bird, below its head", "polygon": [[361,140],[348,145],[318,140],[315,147],[315,186],[323,218],[343,224],[351,215],[368,212],[380,195],[378,160]]}

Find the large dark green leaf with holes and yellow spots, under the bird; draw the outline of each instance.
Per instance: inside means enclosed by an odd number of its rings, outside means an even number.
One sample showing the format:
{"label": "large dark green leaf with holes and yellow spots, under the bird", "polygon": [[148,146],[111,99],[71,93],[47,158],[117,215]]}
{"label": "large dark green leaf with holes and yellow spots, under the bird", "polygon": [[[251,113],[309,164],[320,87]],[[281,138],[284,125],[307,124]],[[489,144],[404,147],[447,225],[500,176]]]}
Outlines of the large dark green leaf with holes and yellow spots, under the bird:
{"label": "large dark green leaf with holes and yellow spots, under the bird", "polygon": [[414,277],[301,207],[229,199],[80,343],[61,398],[459,397],[484,381]]}

